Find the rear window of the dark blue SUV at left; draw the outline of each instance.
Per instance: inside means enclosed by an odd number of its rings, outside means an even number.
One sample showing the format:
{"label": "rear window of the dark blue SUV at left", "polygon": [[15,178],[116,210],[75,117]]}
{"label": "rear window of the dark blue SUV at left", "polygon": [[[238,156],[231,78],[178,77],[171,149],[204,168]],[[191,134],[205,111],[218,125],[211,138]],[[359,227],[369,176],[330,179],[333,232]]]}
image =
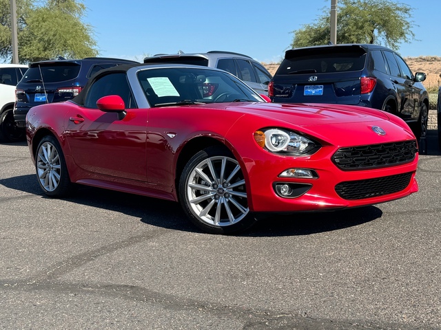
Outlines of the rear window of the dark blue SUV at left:
{"label": "rear window of the dark blue SUV at left", "polygon": [[35,67],[30,67],[23,76],[25,83],[39,83],[43,76],[44,83],[59,83],[61,81],[75,79],[81,69],[81,65],[77,63],[60,63],[56,64],[40,64]]}

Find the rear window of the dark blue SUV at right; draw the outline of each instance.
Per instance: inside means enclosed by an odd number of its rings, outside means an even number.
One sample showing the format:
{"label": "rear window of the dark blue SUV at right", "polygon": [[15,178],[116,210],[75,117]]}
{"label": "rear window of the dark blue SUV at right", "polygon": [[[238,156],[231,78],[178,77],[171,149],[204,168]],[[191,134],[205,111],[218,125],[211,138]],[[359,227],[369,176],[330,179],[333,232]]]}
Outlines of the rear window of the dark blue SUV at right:
{"label": "rear window of the dark blue SUV at right", "polygon": [[320,52],[309,54],[287,52],[277,74],[320,74],[325,72],[361,71],[365,67],[365,52]]}

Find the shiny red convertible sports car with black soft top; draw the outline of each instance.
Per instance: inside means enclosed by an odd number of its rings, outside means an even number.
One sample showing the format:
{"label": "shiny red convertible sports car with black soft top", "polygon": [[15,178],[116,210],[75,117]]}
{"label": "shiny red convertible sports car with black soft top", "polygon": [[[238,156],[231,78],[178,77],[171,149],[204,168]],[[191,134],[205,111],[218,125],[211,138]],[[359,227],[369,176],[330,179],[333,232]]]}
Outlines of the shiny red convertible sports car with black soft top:
{"label": "shiny red convertible sports car with black soft top", "polygon": [[[314,97],[314,96],[311,96]],[[403,120],[336,104],[275,104],[227,72],[121,65],[70,101],[30,109],[39,184],[179,201],[205,232],[256,214],[337,210],[418,191],[416,139]]]}

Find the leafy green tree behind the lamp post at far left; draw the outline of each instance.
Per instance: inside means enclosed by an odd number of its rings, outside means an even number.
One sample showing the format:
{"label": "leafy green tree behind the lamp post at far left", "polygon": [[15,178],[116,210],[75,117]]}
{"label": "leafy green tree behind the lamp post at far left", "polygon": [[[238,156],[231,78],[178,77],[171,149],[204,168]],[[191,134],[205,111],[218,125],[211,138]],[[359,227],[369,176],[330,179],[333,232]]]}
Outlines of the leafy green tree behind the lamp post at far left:
{"label": "leafy green tree behind the lamp post at far left", "polygon": [[[9,0],[0,0],[0,57],[10,58],[10,13],[4,14]],[[81,22],[85,5],[76,0],[47,0],[36,6],[30,0],[17,0],[19,60],[21,63],[63,56],[83,58],[96,56],[92,27]]]}

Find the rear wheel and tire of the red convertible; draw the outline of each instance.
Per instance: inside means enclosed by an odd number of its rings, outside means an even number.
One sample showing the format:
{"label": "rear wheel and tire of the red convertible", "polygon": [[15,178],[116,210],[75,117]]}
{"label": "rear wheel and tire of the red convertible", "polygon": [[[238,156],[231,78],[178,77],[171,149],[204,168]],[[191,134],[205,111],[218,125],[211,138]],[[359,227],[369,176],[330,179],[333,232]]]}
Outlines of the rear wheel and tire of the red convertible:
{"label": "rear wheel and tire of the red convertible", "polygon": [[41,189],[50,197],[64,197],[72,190],[63,150],[57,139],[41,139],[35,155],[35,168]]}

